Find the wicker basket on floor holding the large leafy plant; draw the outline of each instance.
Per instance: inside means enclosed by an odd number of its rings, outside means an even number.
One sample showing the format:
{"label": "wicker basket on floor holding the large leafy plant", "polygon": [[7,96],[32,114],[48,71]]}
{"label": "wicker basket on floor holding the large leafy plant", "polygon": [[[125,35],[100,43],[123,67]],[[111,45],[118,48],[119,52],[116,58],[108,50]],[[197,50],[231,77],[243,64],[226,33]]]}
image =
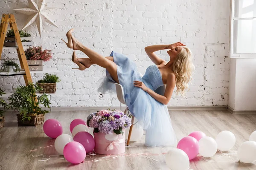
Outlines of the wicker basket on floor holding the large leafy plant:
{"label": "wicker basket on floor holding the large leafy plant", "polygon": [[30,116],[31,120],[25,119],[24,121],[22,120],[22,115],[17,114],[18,118],[18,125],[21,126],[37,126],[41,125],[44,123],[44,114],[39,114],[36,116]]}

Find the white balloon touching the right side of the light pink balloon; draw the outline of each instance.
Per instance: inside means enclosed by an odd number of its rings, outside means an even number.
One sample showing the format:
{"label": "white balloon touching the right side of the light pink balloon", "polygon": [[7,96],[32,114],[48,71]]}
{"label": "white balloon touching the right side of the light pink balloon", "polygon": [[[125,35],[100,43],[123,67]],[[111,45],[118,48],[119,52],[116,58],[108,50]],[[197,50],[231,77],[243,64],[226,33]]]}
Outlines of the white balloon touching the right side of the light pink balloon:
{"label": "white balloon touching the right side of the light pink balloon", "polygon": [[204,157],[214,156],[218,149],[217,142],[209,136],[201,138],[198,142],[198,145],[199,154]]}

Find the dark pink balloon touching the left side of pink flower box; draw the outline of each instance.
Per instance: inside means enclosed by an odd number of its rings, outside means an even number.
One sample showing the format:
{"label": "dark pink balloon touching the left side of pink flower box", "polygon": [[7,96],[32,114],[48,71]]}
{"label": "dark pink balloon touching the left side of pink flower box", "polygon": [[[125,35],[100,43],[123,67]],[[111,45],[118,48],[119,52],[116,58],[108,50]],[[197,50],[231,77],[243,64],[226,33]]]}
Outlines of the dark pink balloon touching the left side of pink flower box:
{"label": "dark pink balloon touching the left side of pink flower box", "polygon": [[95,141],[93,136],[88,132],[79,132],[74,136],[74,141],[79,142],[83,145],[86,153],[93,151],[95,147]]}

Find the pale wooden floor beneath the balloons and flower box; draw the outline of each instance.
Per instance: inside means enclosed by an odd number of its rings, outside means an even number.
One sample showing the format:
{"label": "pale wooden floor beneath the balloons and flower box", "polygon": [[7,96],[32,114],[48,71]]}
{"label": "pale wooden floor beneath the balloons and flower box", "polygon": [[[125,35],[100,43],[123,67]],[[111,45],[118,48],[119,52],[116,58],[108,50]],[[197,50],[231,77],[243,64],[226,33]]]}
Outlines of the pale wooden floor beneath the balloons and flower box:
{"label": "pale wooden floor beneath the balloons and flower box", "polygon": [[[46,119],[54,118],[61,122],[64,133],[69,131],[73,119],[86,119],[93,111],[52,111]],[[236,145],[232,151],[249,139],[250,133],[256,130],[256,115],[233,115],[227,111],[170,111],[172,124],[177,140],[195,130],[201,130],[207,136],[215,138],[219,132],[230,130],[236,136]],[[145,136],[143,136],[145,138]],[[168,170],[164,157],[142,156],[122,157],[97,162],[83,162],[73,165],[63,159],[63,156],[50,156],[48,161],[39,161],[43,156],[32,155],[58,155],[53,147],[30,151],[39,147],[54,144],[54,139],[49,139],[43,131],[43,126],[21,127],[17,126],[15,113],[6,113],[6,126],[0,129],[0,170]],[[169,148],[145,147],[143,139],[131,142],[126,153],[164,153]],[[216,153],[212,159],[206,161],[200,157],[190,161],[190,168],[194,170],[256,170],[255,164],[233,162],[228,156],[220,157]],[[232,158],[235,158],[233,156]],[[48,157],[46,157],[48,158]],[[101,159],[99,156],[87,156],[86,161]]]}

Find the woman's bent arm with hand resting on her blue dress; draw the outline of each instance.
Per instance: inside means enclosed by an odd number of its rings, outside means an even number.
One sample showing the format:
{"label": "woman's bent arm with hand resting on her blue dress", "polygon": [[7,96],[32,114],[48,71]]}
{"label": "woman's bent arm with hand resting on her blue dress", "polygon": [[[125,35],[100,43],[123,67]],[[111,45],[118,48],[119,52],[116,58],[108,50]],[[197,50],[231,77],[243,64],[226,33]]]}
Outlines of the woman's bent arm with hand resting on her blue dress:
{"label": "woman's bent arm with hand resting on her blue dress", "polygon": [[167,105],[172,97],[173,89],[175,88],[175,74],[170,74],[168,76],[167,82],[166,82],[166,90],[163,96],[160,94],[157,94],[156,92],[152,91],[150,88],[146,87],[143,82],[134,81],[134,86],[143,89],[145,92],[150,94],[150,96],[152,96],[158,102],[161,102],[164,105]]}

